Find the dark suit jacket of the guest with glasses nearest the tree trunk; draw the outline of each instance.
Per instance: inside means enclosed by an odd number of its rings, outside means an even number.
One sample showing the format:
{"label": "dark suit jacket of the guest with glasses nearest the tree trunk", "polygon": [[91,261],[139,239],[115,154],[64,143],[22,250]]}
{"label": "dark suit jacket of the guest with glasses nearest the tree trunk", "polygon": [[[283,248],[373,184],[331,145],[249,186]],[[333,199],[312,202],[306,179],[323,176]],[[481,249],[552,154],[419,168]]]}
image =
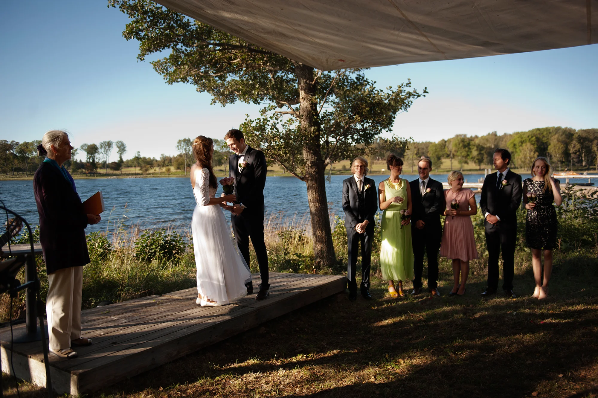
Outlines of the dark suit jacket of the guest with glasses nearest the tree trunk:
{"label": "dark suit jacket of the guest with glasses nearest the tree trunk", "polygon": [[[365,189],[365,186],[370,185]],[[361,211],[359,205],[362,204]],[[374,180],[364,177],[364,189],[358,193],[355,177],[350,176],[343,181],[344,226],[355,228],[355,225],[369,221],[373,225],[374,215],[378,210],[378,197]]]}

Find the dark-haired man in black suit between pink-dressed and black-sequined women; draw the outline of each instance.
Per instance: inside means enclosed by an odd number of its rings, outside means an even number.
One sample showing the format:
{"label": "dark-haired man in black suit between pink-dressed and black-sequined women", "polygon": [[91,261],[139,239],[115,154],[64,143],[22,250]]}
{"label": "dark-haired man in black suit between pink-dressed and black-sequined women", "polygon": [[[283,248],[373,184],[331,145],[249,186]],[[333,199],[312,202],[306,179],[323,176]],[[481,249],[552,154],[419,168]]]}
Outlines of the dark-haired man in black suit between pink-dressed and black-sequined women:
{"label": "dark-haired man in black suit between pink-dressed and black-sequined women", "polygon": [[492,160],[496,173],[484,179],[480,207],[486,222],[488,247],[488,286],[481,296],[488,297],[498,289],[498,256],[502,250],[502,289],[509,298],[513,293],[515,274],[515,242],[517,241],[517,208],[521,204],[521,176],[509,170],[511,153],[496,149]]}

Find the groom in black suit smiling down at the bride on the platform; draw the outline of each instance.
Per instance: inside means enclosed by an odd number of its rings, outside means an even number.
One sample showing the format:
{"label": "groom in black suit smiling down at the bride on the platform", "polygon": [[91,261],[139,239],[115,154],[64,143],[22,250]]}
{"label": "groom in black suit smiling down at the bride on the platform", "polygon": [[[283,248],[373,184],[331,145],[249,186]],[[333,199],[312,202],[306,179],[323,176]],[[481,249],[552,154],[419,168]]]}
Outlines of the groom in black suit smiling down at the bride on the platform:
{"label": "groom in black suit smiling down at the bride on the platform", "polygon": [[[268,253],[264,243],[264,185],[266,184],[266,157],[264,152],[251,148],[245,143],[241,130],[229,130],[224,140],[234,152],[228,158],[228,175],[234,178],[234,194],[237,203],[231,210],[234,238],[241,255],[249,265],[249,238],[254,245],[255,256],[260,265],[260,290],[256,300],[267,298],[270,293],[268,283]],[[254,292],[253,282],[245,284],[247,293]]]}

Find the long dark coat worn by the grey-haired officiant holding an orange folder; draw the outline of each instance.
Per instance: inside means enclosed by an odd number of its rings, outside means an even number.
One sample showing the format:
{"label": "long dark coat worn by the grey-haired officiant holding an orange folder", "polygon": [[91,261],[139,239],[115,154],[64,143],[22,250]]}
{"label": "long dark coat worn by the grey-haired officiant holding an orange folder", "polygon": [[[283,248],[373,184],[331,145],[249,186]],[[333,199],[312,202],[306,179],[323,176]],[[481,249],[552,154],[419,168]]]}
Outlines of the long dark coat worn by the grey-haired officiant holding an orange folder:
{"label": "long dark coat worn by the grey-haired officiant holding an orange folder", "polygon": [[42,163],[33,176],[33,191],[46,272],[89,264],[87,215],[71,184],[56,166]]}

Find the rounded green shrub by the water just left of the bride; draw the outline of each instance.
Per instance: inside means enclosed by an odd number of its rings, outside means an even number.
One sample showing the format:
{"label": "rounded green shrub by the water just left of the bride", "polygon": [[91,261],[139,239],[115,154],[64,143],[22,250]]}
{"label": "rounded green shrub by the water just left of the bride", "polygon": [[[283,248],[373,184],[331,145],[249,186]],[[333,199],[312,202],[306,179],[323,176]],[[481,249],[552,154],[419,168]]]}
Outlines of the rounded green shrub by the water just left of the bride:
{"label": "rounded green shrub by the water just left of the bride", "polygon": [[179,258],[184,252],[187,243],[176,232],[166,232],[165,229],[144,231],[135,241],[135,256],[151,262],[152,259]]}

